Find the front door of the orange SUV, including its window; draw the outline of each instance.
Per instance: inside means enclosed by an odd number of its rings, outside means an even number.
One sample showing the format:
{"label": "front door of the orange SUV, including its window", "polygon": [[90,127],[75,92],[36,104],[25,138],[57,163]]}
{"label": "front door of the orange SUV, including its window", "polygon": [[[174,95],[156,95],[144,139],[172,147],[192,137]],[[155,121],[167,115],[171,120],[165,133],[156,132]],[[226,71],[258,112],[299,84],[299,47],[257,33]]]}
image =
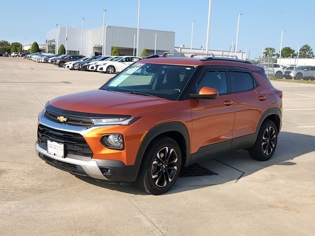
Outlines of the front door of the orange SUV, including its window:
{"label": "front door of the orange SUV, including its window", "polygon": [[229,150],[232,144],[235,106],[233,95],[230,94],[227,67],[205,67],[191,93],[198,93],[202,87],[217,89],[219,96],[216,99],[189,99],[192,116],[191,153],[195,153],[192,159]]}

